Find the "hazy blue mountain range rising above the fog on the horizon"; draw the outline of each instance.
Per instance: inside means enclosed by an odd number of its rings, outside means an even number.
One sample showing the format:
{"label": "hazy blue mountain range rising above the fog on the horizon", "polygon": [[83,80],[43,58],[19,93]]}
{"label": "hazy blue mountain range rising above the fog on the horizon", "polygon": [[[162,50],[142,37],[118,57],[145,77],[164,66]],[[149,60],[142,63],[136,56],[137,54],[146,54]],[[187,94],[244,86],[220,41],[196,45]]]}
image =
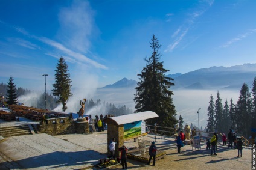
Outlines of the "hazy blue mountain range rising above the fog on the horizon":
{"label": "hazy blue mountain range rising above the fog on the horizon", "polygon": [[[210,67],[191,71],[185,74],[168,74],[174,79],[172,88],[210,89],[232,88],[240,89],[243,83],[252,87],[252,80],[256,76],[256,64],[243,64],[232,67]],[[137,82],[124,78],[103,88],[135,88]]]}

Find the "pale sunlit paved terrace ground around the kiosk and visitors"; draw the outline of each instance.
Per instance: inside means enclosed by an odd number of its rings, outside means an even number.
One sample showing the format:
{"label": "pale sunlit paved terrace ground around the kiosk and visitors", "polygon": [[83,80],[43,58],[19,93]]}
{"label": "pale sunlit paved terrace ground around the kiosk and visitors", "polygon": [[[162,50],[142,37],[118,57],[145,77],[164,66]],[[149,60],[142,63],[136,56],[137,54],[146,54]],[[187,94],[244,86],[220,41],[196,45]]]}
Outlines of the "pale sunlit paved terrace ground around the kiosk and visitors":
{"label": "pale sunlit paved terrace ground around the kiosk and visitors", "polygon": [[[35,123],[30,121],[2,122],[2,126]],[[156,139],[155,139],[156,137]],[[237,158],[237,150],[218,145],[217,156],[202,144],[202,150],[192,150],[190,145],[177,154],[174,138],[160,139],[149,134],[146,140],[156,141],[158,149],[167,151],[156,166],[128,160],[129,169],[251,169],[251,150],[243,149],[243,157]],[[107,131],[88,135],[71,134],[50,136],[46,134],[23,135],[6,138],[0,142],[0,169],[95,169],[98,160],[107,155]],[[126,147],[138,147],[133,139]],[[121,165],[109,169],[122,169]]]}

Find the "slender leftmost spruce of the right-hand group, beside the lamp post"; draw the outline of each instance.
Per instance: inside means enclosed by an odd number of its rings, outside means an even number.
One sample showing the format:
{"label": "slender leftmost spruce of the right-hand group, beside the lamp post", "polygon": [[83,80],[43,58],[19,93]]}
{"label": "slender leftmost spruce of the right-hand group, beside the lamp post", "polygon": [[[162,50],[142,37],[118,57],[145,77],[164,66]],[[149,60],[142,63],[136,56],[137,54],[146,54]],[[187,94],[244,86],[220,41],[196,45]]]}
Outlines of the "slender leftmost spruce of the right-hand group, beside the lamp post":
{"label": "slender leftmost spruce of the right-hand group, beside the lamp post", "polygon": [[215,120],[215,106],[213,101],[213,95],[210,96],[209,106],[208,106],[208,123],[207,123],[207,132],[214,132],[214,120]]}

